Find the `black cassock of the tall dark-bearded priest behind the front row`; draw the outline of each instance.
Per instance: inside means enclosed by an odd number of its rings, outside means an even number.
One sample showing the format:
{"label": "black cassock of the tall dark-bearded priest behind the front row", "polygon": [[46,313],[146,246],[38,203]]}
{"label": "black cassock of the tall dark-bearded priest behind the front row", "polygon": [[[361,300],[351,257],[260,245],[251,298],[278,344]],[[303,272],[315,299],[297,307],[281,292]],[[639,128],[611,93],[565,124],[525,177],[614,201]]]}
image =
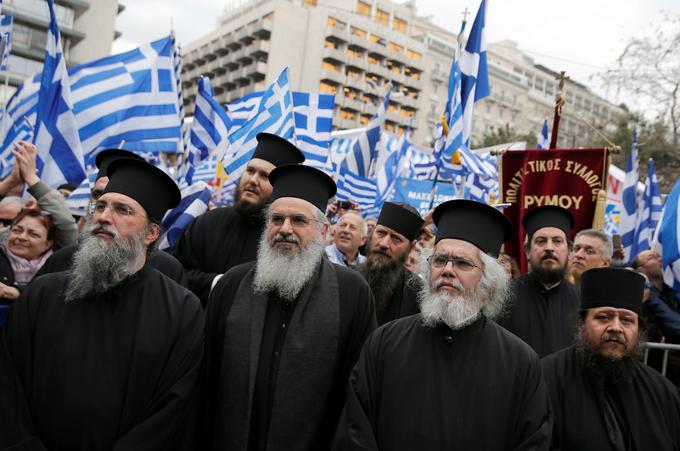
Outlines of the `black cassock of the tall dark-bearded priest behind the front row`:
{"label": "black cassock of the tall dark-bearded priest behind the front row", "polygon": [[187,270],[189,288],[203,305],[216,276],[257,258],[263,229],[260,214],[244,214],[234,207],[208,211],[189,224],[173,253]]}

